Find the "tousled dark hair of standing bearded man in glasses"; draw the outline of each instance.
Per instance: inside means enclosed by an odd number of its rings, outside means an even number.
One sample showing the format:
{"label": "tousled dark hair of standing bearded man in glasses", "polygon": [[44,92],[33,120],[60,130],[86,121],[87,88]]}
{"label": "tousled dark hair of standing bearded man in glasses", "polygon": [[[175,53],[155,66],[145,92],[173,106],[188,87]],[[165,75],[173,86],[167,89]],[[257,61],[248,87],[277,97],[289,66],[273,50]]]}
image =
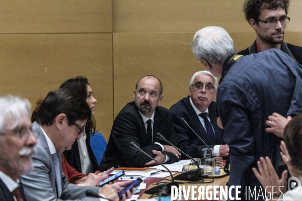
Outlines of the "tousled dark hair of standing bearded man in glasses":
{"label": "tousled dark hair of standing bearded man in glasses", "polygon": [[287,15],[289,1],[290,0],[246,0],[243,4],[243,12],[247,21],[254,19],[258,23],[260,11],[264,9],[276,10],[282,8]]}

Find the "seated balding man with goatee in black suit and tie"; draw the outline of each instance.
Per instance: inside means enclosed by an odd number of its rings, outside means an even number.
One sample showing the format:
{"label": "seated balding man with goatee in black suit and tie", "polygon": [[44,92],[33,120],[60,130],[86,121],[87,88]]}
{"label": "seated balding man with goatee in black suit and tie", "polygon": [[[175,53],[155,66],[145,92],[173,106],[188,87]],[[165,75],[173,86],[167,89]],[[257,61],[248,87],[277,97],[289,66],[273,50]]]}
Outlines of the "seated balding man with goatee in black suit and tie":
{"label": "seated balding man with goatee in black suit and tie", "polygon": [[163,99],[163,86],[154,76],[138,80],[133,90],[134,102],[128,103],[114,120],[108,145],[101,161],[101,169],[114,167],[143,167],[157,165],[154,160],[130,148],[134,142],[160,162],[175,162],[180,153],[176,148],[156,137],[161,133],[178,145],[173,129],[172,113],[158,106]]}

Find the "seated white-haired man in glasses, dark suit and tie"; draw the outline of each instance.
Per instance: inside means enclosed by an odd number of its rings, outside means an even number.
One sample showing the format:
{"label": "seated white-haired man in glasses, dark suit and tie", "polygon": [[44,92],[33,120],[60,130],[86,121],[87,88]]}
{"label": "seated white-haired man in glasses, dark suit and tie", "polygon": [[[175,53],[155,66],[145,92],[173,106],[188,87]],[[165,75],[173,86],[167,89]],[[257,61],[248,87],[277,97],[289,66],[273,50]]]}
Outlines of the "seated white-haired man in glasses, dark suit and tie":
{"label": "seated white-haired man in glasses, dark suit and tie", "polygon": [[179,100],[170,108],[174,114],[173,126],[181,149],[191,157],[202,158],[202,149],[206,146],[181,121],[181,118],[187,121],[210,148],[214,148],[215,156],[225,157],[229,154],[229,146],[221,145],[223,130],[217,126],[216,103],[213,101],[216,88],[215,76],[209,71],[198,71],[190,80],[189,96]]}

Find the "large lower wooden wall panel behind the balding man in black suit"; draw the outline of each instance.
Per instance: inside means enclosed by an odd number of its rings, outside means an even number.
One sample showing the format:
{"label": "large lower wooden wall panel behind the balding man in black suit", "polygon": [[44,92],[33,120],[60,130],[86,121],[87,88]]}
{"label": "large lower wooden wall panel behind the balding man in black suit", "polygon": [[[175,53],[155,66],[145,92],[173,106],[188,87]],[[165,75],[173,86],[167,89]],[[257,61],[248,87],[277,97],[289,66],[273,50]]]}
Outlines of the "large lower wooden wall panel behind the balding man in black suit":
{"label": "large lower wooden wall panel behind the balding man in black suit", "polygon": [[[133,88],[136,81],[144,75],[152,74],[162,81],[163,107],[170,108],[188,95],[191,76],[199,70],[206,70],[192,53],[191,41],[194,34],[113,34],[114,117],[128,102],[133,101]],[[238,51],[252,45],[256,37],[251,32],[231,32],[230,36]],[[286,33],[285,41],[302,46],[300,37],[301,34],[289,32]]]}

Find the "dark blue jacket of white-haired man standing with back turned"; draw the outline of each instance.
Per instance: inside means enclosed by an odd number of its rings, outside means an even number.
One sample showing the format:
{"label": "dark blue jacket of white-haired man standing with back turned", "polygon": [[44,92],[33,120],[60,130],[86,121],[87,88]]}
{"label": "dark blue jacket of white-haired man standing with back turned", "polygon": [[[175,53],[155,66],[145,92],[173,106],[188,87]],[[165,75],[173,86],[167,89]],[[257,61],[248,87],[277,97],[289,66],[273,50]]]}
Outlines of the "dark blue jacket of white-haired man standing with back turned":
{"label": "dark blue jacket of white-haired man standing with back turned", "polygon": [[217,110],[231,150],[229,186],[241,185],[242,193],[244,186],[259,187],[252,167],[261,156],[269,156],[277,170],[281,138],[266,133],[265,122],[274,112],[284,117],[302,112],[301,69],[287,54],[270,49],[242,57],[222,77]]}

